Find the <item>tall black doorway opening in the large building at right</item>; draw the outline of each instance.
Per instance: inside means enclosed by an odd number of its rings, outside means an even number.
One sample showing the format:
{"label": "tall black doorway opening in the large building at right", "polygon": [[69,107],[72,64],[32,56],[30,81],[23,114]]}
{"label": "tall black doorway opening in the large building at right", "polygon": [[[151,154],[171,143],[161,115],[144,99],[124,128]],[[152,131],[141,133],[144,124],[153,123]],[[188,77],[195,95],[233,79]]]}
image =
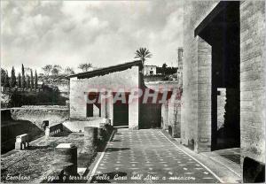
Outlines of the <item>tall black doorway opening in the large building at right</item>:
{"label": "tall black doorway opening in the large building at right", "polygon": [[[212,47],[212,150],[240,145],[239,25],[239,1],[224,1],[195,30],[195,35]],[[221,93],[218,88],[226,91],[222,108],[224,120],[219,124],[217,116],[221,116],[221,107],[217,99],[219,101]]]}

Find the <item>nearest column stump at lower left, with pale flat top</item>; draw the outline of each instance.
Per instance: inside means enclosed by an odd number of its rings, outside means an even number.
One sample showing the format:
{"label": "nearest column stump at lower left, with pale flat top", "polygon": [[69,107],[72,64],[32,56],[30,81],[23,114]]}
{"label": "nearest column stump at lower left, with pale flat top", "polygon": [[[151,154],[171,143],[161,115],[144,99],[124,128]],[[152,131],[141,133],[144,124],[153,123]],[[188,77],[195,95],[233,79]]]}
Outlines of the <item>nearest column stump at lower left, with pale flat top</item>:
{"label": "nearest column stump at lower left, with pale flat top", "polygon": [[63,170],[64,175],[77,174],[77,147],[72,143],[60,143],[55,148],[54,169]]}

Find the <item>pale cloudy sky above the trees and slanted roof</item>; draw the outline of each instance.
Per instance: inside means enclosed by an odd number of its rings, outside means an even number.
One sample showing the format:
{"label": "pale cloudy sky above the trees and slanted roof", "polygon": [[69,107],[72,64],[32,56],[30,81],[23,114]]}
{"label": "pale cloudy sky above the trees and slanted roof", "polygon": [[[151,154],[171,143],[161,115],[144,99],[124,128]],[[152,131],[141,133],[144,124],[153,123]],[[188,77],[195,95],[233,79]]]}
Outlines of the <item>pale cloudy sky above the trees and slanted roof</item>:
{"label": "pale cloudy sky above the trees and slanted roof", "polygon": [[1,1],[1,67],[91,63],[106,67],[133,61],[145,47],[146,65],[176,66],[183,46],[181,0]]}

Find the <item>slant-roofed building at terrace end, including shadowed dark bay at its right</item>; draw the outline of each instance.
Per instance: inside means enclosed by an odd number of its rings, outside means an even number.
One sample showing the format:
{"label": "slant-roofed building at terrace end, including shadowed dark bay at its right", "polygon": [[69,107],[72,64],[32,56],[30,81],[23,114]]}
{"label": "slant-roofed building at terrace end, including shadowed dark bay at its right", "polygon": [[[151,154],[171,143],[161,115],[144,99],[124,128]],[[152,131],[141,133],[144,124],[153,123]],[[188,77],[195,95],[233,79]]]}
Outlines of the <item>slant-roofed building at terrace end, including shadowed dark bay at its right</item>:
{"label": "slant-roofed building at terrace end, including shadowed dark bay at its right", "polygon": [[141,61],[78,73],[69,78],[70,120],[100,117],[109,119],[113,126],[131,129],[161,126],[162,94],[145,86]]}

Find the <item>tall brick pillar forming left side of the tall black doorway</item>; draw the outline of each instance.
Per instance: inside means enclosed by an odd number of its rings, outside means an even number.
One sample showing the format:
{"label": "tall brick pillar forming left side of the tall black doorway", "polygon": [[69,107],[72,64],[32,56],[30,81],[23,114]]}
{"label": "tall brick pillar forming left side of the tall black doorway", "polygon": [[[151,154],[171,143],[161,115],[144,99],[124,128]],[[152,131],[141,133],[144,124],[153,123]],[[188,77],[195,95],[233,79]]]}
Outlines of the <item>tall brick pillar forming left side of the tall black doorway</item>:
{"label": "tall brick pillar forming left side of the tall black doorway", "polygon": [[[198,125],[195,150],[210,151],[212,103],[212,48],[198,37]],[[216,94],[216,91],[215,91]]]}

